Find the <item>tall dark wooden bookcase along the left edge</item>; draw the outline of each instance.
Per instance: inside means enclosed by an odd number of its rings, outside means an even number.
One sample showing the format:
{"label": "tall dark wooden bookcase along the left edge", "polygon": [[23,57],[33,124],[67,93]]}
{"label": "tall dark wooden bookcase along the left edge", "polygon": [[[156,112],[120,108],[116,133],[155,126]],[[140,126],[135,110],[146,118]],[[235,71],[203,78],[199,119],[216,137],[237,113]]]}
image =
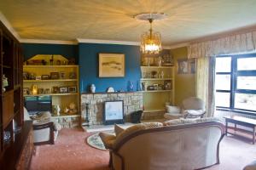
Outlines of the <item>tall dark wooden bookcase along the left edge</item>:
{"label": "tall dark wooden bookcase along the left edge", "polygon": [[[25,161],[27,168],[32,156],[25,150],[33,144],[32,122],[23,118],[22,63],[20,42],[0,22],[0,169],[19,169]],[[24,154],[26,160],[21,160]]]}

